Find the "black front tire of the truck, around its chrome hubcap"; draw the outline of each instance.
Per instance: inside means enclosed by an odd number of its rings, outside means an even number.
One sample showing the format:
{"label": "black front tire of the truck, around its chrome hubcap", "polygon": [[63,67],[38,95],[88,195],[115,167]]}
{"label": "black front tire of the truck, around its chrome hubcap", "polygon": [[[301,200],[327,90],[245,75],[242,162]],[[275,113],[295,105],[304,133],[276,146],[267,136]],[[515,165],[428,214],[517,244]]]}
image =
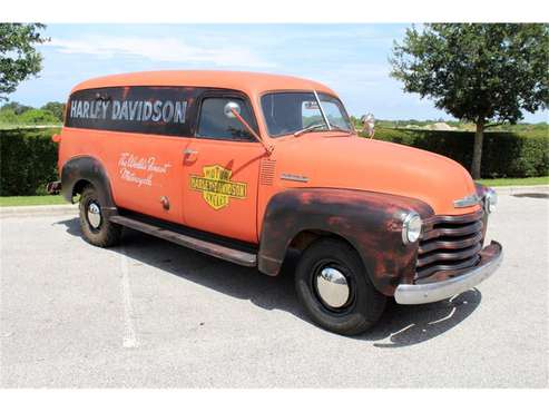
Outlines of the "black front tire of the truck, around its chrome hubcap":
{"label": "black front tire of the truck, around its chrome hubcap", "polygon": [[[326,267],[335,267],[349,285],[349,297],[337,308],[323,301],[316,286],[318,271]],[[365,332],[385,308],[386,297],[372,285],[360,255],[334,238],[321,238],[305,249],[297,264],[295,288],[308,316],[321,327],[342,335]]]}

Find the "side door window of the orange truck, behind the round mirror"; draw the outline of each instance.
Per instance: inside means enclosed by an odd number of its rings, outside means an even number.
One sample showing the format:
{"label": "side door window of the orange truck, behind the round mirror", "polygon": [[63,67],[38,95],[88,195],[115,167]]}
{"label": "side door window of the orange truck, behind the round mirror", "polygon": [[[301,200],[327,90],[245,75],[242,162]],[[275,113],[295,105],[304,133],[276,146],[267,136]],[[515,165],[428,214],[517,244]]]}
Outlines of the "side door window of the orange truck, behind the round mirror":
{"label": "side door window of the orange truck, behind the round mirror", "polygon": [[212,139],[251,139],[252,136],[246,127],[235,117],[227,116],[225,106],[228,102],[236,102],[239,106],[239,115],[251,126],[255,126],[255,120],[242,98],[232,97],[207,97],[202,101],[200,114],[198,117],[198,127],[196,135],[198,137]]}

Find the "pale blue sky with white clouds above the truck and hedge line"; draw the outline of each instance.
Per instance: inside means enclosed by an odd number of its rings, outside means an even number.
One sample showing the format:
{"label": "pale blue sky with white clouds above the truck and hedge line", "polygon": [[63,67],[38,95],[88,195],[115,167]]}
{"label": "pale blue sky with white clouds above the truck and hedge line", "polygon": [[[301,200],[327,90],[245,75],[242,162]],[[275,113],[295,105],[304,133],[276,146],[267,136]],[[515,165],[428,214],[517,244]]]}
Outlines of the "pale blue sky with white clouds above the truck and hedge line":
{"label": "pale blue sky with white clouds above the truck and hedge line", "polygon": [[[10,100],[66,101],[88,78],[141,70],[247,70],[308,78],[335,90],[354,116],[452,119],[389,76],[393,41],[410,24],[48,24],[43,69]],[[548,121],[548,111],[525,114]]]}

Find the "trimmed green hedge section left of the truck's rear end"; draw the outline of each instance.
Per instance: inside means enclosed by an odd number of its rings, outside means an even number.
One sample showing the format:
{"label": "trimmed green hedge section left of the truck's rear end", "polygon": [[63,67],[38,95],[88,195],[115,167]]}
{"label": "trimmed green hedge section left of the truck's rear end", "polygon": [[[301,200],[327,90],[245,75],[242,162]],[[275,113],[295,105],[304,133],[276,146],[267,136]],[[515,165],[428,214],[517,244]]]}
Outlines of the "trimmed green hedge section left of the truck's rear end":
{"label": "trimmed green hedge section left of the truck's rear end", "polygon": [[0,196],[46,194],[48,182],[57,180],[59,129],[0,130]]}

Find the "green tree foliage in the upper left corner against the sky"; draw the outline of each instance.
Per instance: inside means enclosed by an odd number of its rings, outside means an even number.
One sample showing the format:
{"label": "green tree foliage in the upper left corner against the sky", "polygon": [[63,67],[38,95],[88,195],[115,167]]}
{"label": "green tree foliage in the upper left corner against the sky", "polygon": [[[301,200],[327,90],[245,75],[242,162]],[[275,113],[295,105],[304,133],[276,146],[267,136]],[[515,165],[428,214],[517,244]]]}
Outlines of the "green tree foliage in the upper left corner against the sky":
{"label": "green tree foliage in the upper left corner against the sky", "polygon": [[40,23],[0,23],[0,100],[41,70],[42,57],[36,45],[48,41]]}

